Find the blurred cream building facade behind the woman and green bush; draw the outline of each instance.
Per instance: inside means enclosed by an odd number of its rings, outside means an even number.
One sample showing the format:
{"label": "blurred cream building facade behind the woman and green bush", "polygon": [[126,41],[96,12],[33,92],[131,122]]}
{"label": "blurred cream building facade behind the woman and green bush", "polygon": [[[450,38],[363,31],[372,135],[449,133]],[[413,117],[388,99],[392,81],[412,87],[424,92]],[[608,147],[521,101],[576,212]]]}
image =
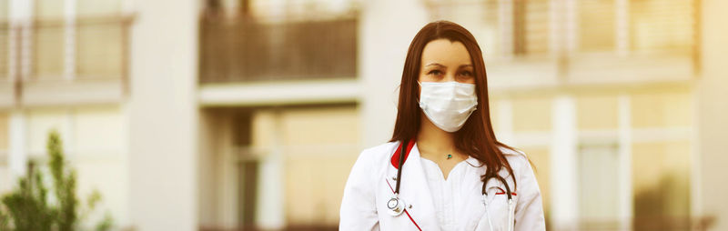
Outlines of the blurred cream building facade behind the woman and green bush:
{"label": "blurred cream building facade behind the woman and green bush", "polygon": [[550,230],[728,230],[728,1],[0,0],[0,194],[56,129],[123,230],[336,230],[412,37],[479,40]]}

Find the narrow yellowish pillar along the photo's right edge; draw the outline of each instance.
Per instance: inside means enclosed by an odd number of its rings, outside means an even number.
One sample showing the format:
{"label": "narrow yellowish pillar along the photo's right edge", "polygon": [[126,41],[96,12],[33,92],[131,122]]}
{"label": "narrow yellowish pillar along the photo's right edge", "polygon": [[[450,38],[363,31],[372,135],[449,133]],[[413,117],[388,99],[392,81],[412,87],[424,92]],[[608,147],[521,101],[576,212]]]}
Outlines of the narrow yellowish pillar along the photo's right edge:
{"label": "narrow yellowish pillar along the photo's right edge", "polygon": [[728,230],[728,1],[701,1],[700,40],[702,75],[696,90],[697,163],[693,165],[693,216],[715,216],[711,230]]}

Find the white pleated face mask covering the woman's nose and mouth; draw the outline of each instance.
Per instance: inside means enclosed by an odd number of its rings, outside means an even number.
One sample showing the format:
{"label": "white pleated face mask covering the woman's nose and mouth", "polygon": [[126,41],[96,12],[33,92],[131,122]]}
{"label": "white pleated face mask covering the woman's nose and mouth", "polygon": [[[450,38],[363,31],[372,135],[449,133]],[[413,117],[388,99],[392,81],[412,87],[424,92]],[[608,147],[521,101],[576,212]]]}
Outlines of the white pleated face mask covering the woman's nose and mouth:
{"label": "white pleated face mask covering the woman's nose and mouth", "polygon": [[474,84],[424,82],[420,90],[420,108],[432,124],[446,132],[460,130],[478,105]]}

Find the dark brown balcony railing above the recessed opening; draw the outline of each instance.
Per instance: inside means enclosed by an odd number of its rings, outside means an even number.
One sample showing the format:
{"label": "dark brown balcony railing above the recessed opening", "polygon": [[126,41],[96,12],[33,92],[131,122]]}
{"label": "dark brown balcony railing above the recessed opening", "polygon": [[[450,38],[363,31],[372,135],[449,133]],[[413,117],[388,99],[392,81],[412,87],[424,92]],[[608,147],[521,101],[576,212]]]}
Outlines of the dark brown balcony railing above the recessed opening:
{"label": "dark brown balcony railing above the recessed opening", "polygon": [[356,63],[356,18],[201,20],[200,83],[354,78]]}

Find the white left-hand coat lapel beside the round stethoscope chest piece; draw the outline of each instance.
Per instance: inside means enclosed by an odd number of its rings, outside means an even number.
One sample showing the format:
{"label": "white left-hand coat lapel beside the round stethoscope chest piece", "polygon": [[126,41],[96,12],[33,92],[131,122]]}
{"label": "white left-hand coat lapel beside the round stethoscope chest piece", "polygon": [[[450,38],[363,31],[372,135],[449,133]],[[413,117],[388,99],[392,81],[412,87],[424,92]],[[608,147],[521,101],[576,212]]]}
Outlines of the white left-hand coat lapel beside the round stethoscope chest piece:
{"label": "white left-hand coat lapel beside the round stethoscope chest piece", "polygon": [[[397,175],[396,169],[394,175]],[[440,224],[435,216],[435,206],[432,202],[430,186],[422,169],[420,150],[417,148],[417,144],[412,147],[410,156],[407,157],[404,166],[402,166],[399,196],[405,200],[408,205],[407,211],[422,230],[440,229]]]}

